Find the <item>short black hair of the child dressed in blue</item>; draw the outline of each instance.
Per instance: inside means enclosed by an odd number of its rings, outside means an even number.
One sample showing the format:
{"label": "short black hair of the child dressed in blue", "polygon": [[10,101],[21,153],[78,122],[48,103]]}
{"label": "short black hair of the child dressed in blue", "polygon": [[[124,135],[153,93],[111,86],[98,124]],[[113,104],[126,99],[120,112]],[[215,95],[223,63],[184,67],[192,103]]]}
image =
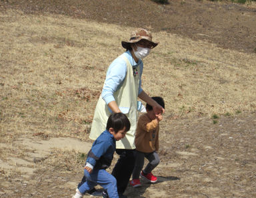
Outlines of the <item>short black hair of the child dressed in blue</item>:
{"label": "short black hair of the child dressed in blue", "polygon": [[131,128],[131,123],[125,114],[115,113],[111,114],[107,120],[106,130],[109,130],[109,128],[113,128],[115,133],[123,128],[125,128],[125,132],[128,132]]}

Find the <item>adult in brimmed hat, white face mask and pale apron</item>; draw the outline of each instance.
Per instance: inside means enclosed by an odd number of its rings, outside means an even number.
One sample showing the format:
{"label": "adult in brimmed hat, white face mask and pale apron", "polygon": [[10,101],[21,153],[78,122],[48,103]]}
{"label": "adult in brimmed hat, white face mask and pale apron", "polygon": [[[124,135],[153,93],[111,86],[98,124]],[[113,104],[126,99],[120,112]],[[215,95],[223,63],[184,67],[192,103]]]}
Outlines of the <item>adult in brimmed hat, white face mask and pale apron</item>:
{"label": "adult in brimmed hat, white face mask and pale apron", "polygon": [[[117,57],[109,66],[105,83],[93,118],[89,138],[95,140],[105,130],[107,118],[112,112],[123,112],[131,122],[131,128],[123,140],[117,142],[119,159],[112,175],[117,179],[117,191],[121,196],[125,191],[135,163],[135,129],[137,126],[137,97],[153,107],[155,114],[165,112],[155,100],[141,88],[143,61],[153,43],[151,33],[145,29],[136,29],[129,41],[121,42],[126,52]],[[100,129],[100,130],[99,130]]]}

